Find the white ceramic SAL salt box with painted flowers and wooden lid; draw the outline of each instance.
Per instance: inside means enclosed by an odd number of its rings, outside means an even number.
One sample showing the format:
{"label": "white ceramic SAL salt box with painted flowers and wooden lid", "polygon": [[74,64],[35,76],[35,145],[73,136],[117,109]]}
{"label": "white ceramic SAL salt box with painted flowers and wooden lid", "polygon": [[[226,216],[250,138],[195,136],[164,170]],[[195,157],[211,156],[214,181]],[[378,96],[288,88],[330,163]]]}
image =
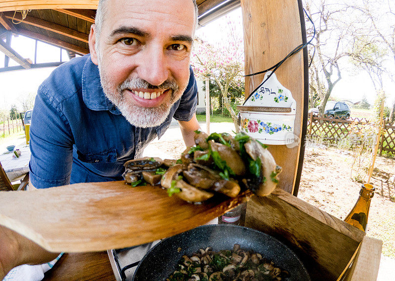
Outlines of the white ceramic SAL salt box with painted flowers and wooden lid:
{"label": "white ceramic SAL salt box with painted flowers and wooden lid", "polygon": [[[267,72],[265,81],[271,72]],[[277,80],[276,74],[262,82],[245,103],[237,106],[240,131],[264,144],[295,142],[296,101]]]}

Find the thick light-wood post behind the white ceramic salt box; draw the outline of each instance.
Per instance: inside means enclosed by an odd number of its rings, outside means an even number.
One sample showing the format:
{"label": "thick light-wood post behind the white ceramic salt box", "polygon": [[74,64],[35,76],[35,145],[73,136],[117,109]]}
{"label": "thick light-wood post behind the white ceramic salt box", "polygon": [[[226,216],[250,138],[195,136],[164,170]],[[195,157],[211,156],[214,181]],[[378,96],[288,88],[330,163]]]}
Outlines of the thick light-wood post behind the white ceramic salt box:
{"label": "thick light-wood post behind the white ceramic salt box", "polygon": [[[297,0],[241,0],[244,27],[245,74],[274,66],[302,43],[300,11]],[[295,138],[302,138],[304,107],[303,51],[287,59],[277,70],[279,82],[296,100]],[[245,97],[263,81],[264,74],[245,78]],[[282,167],[278,187],[292,193],[296,182],[301,142],[288,148],[270,145]]]}

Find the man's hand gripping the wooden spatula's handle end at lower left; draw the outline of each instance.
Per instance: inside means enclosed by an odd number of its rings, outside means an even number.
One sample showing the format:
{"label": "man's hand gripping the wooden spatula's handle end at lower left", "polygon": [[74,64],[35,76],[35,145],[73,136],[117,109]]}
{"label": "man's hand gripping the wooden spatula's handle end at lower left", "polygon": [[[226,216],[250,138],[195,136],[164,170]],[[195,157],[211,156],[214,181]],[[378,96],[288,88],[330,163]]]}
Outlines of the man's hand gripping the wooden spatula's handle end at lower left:
{"label": "man's hand gripping the wooden spatula's handle end at lower left", "polygon": [[35,242],[0,226],[0,280],[16,266],[42,264],[54,260],[59,253],[51,253]]}

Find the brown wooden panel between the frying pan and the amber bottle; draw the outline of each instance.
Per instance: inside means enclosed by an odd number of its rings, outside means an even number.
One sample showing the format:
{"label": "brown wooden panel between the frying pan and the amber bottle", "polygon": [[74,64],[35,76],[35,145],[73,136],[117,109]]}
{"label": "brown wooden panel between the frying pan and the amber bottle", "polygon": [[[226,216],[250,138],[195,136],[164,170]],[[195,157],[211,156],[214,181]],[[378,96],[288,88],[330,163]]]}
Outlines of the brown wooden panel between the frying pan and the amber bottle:
{"label": "brown wooden panel between the frying pan and the amber bottle", "polygon": [[311,279],[320,281],[337,280],[365,235],[278,188],[268,197],[248,202],[245,226],[284,242],[302,260]]}

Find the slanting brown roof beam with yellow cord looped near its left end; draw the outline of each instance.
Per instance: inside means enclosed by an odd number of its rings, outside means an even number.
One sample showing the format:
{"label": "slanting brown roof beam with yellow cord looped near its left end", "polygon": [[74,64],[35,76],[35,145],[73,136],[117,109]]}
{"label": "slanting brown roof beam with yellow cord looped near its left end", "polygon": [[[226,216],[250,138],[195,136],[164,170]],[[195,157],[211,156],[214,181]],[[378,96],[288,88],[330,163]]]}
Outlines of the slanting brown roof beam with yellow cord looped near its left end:
{"label": "slanting brown roof beam with yellow cord looped near its left end", "polygon": [[[13,12],[4,12],[3,15],[8,19],[12,19],[14,17]],[[21,21],[22,15],[20,13],[17,13],[14,18],[17,21]],[[58,33],[58,34],[61,34],[61,35],[64,35],[64,36],[67,36],[70,38],[74,38],[74,39],[83,41],[85,43],[88,42],[88,35],[86,35],[85,33],[70,29],[68,27],[64,27],[62,25],[58,25],[56,23],[44,21],[39,18],[26,16],[26,18],[23,19],[23,23],[26,23],[26,24],[29,24],[32,26],[37,26],[37,27],[43,28],[45,30],[49,30],[49,31],[52,31],[52,32],[55,32],[55,33]]]}

